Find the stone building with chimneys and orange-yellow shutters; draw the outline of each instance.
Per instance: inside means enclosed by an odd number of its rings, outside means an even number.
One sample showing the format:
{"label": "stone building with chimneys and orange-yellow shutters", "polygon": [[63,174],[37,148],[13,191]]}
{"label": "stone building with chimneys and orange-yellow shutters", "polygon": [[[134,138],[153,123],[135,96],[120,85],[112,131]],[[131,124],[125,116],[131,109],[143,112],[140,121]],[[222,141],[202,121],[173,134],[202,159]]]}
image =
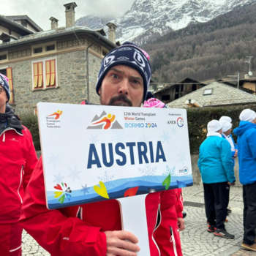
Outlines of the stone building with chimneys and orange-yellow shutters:
{"label": "stone building with chimneys and orange-yellow shutters", "polygon": [[99,103],[95,84],[100,62],[116,43],[105,37],[103,29],[75,26],[75,2],[64,7],[66,27],[58,28],[58,20],[51,17],[49,31],[24,27],[27,34],[17,33],[15,39],[0,44],[0,72],[12,84],[10,104],[15,113],[36,113],[38,102]]}

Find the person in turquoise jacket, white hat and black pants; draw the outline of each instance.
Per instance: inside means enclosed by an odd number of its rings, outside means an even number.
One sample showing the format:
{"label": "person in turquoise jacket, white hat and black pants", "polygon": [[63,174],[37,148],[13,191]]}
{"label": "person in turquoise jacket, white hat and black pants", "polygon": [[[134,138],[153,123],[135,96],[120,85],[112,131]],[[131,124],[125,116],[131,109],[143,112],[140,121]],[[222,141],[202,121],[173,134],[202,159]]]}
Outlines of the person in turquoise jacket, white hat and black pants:
{"label": "person in turquoise jacket, white hat and black pants", "polygon": [[220,238],[234,238],[224,224],[230,185],[236,181],[230,144],[222,138],[219,121],[208,122],[207,130],[207,138],[199,149],[198,167],[203,180],[208,232]]}

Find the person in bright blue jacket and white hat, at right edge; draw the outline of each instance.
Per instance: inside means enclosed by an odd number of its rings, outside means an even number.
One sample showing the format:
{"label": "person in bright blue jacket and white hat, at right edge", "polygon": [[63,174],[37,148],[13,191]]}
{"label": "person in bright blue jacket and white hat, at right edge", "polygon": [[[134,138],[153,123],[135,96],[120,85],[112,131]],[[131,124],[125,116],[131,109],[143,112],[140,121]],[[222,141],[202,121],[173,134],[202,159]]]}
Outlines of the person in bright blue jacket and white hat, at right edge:
{"label": "person in bright blue jacket and white hat, at right edge", "polygon": [[256,252],[256,113],[245,109],[241,112],[238,135],[239,178],[243,184],[244,239],[241,246]]}

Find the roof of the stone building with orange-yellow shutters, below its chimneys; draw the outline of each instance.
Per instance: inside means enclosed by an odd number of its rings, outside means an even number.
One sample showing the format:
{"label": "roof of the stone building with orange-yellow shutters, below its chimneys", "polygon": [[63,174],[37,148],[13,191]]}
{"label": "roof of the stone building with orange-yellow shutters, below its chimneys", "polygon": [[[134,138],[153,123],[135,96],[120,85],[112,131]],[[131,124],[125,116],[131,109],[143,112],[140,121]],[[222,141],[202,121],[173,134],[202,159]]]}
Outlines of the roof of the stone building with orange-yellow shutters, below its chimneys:
{"label": "roof of the stone building with orange-yellow shutters, below its chimneys", "polygon": [[91,34],[92,36],[101,39],[103,42],[107,43],[113,48],[116,48],[116,45],[111,42],[108,38],[102,36],[98,31],[91,30],[86,26],[72,26],[69,28],[61,27],[56,29],[51,29],[48,31],[40,31],[28,36],[20,37],[20,39],[15,42],[4,42],[0,45],[0,50],[12,48],[20,45],[26,45],[28,43],[42,42],[42,40],[55,39],[56,37],[66,37],[69,34]]}

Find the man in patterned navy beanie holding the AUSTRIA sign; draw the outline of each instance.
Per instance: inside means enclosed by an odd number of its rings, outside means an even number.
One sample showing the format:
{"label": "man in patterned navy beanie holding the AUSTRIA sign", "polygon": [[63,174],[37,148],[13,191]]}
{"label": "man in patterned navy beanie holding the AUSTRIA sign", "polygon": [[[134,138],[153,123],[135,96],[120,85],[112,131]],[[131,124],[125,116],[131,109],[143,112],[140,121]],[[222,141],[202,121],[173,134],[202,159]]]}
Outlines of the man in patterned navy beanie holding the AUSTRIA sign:
{"label": "man in patterned navy beanie holding the AUSTRIA sign", "polygon": [[[146,99],[150,78],[149,61],[135,45],[111,50],[102,60],[96,86],[101,105],[140,107]],[[155,227],[157,214],[154,220]],[[138,238],[121,230],[120,207],[116,200],[48,210],[42,159],[31,177],[20,225],[52,256],[134,256],[140,250]],[[151,256],[155,255],[151,253]]]}

